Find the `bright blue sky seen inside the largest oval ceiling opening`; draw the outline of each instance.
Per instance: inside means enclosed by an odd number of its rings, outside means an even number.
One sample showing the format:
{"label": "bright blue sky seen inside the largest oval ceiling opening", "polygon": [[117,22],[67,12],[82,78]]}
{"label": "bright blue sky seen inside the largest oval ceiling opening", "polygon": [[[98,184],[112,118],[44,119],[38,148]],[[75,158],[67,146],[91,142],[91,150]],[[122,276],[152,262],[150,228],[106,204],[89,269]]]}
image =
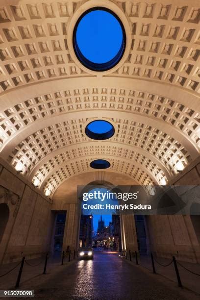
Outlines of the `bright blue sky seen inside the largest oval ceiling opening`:
{"label": "bright blue sky seen inside the largest oval ceiling opening", "polygon": [[94,10],[79,22],[77,45],[82,54],[94,63],[106,63],[122,46],[123,32],[119,21],[109,12]]}

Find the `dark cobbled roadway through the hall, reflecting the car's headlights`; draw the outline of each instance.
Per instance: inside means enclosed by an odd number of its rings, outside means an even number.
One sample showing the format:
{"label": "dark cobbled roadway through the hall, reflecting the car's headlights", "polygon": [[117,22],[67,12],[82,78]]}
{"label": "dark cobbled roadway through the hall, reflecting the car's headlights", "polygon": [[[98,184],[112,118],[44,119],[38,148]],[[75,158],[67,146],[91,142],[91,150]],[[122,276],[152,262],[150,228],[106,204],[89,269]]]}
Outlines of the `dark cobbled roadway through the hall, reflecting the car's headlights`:
{"label": "dark cobbled roadway through the hall, reflecting the car's headlights", "polygon": [[47,275],[24,281],[35,299],[55,300],[197,300],[200,296],[175,282],[128,263],[117,254],[95,253],[93,260],[56,266]]}

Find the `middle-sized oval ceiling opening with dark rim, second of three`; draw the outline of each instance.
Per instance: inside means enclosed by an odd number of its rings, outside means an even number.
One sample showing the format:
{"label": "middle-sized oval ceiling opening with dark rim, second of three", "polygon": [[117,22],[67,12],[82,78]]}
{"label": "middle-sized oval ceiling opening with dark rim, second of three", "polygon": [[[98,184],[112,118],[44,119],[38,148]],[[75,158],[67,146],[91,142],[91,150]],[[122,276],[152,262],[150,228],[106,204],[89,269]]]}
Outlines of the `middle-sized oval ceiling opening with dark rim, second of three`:
{"label": "middle-sized oval ceiling opening with dark rim, second of three", "polygon": [[107,140],[115,133],[114,126],[104,120],[95,120],[85,128],[86,135],[93,140]]}

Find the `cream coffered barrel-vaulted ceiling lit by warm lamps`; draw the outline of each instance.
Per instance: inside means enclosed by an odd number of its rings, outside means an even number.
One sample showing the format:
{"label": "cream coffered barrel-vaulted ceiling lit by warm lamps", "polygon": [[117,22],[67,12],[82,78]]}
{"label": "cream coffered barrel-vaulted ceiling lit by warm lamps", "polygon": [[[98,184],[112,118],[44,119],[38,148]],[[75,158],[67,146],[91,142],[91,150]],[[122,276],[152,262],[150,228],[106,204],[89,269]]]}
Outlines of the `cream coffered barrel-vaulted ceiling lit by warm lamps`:
{"label": "cream coffered barrel-vaulted ceiling lit by warm lamps", "polygon": [[[94,6],[125,27],[124,56],[105,72],[73,49],[75,23]],[[172,180],[200,155],[199,21],[199,0],[1,0],[1,157],[51,196],[97,158],[138,184]],[[86,136],[95,119],[112,138]]]}

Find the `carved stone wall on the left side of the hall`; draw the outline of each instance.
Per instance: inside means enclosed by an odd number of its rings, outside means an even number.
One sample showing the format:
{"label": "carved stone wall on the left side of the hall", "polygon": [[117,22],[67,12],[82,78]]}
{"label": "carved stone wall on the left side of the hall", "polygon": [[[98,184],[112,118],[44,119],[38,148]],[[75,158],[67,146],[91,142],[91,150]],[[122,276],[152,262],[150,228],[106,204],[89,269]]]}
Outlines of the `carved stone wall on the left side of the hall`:
{"label": "carved stone wall on the left side of the hall", "polygon": [[49,250],[51,201],[0,165],[0,203],[7,204],[9,219],[0,243],[0,263],[18,261],[22,254],[38,257]]}

